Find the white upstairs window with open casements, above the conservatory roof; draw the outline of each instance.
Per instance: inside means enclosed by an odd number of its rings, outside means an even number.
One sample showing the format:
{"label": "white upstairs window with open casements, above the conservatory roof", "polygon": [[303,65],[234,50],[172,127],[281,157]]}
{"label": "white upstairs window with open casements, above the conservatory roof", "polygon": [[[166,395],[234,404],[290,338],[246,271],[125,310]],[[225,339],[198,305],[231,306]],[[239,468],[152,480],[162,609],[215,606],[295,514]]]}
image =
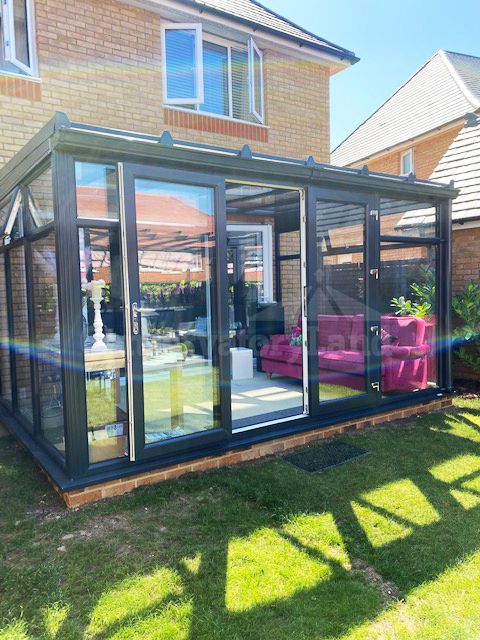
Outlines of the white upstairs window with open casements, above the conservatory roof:
{"label": "white upstairs window with open casements, above the conservatory roof", "polygon": [[164,103],[263,122],[263,56],[252,38],[230,45],[200,24],[162,28]]}

